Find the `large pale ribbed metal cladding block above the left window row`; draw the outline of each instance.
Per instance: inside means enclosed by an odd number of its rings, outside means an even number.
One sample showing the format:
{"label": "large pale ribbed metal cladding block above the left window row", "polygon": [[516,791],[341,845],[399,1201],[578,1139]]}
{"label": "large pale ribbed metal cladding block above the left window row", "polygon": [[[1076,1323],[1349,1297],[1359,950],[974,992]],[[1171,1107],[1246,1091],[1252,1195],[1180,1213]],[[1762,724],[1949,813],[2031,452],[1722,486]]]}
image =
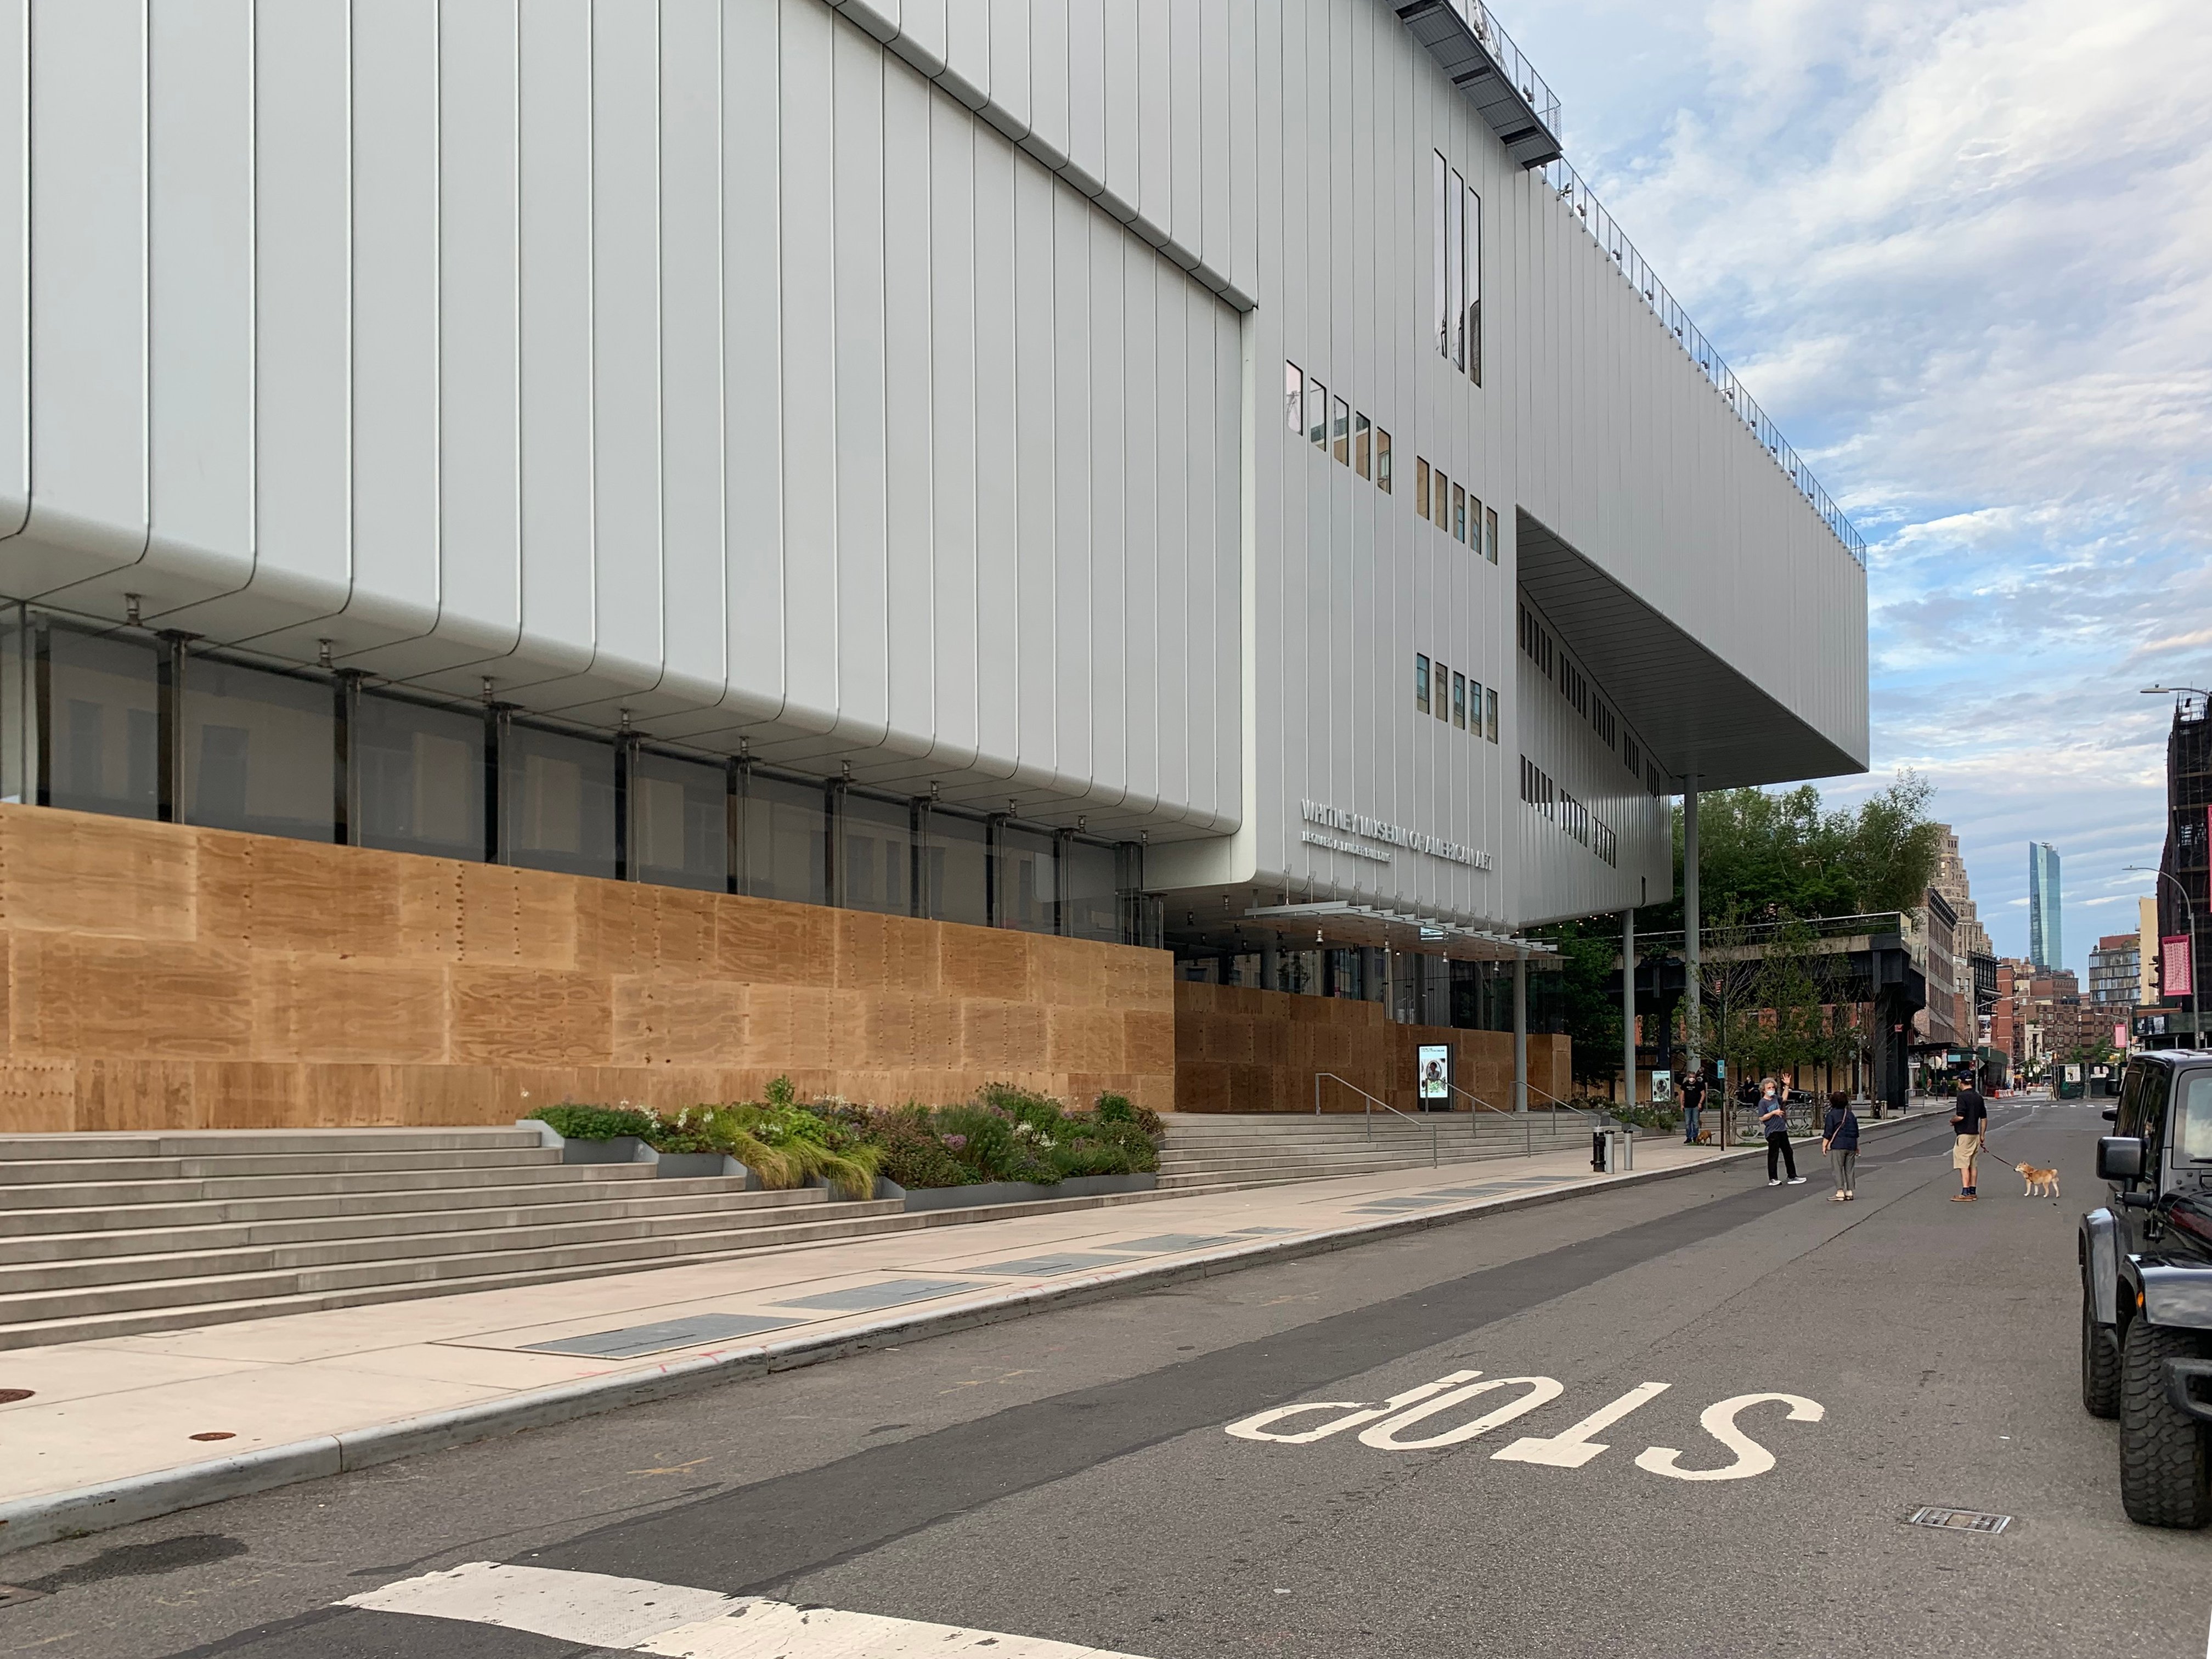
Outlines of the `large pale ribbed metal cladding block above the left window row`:
{"label": "large pale ribbed metal cladding block above the left window row", "polygon": [[1124,226],[1223,246],[1230,29],[1091,18],[1121,201],[1006,137],[1073,142],[1082,15],[947,13],[962,106],[818,0],[157,11],[38,13],[35,511],[0,588],[1093,827],[1234,823],[1241,323]]}

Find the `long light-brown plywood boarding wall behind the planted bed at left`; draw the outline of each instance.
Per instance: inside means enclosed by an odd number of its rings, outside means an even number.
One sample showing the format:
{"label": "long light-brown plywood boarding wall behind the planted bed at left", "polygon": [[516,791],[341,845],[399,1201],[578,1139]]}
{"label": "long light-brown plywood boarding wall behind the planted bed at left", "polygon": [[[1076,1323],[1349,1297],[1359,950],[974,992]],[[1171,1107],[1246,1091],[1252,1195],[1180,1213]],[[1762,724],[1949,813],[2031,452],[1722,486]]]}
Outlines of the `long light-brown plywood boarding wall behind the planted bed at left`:
{"label": "long light-brown plywood boarding wall behind the planted bed at left", "polygon": [[1175,1104],[1161,951],[0,805],[0,1133]]}

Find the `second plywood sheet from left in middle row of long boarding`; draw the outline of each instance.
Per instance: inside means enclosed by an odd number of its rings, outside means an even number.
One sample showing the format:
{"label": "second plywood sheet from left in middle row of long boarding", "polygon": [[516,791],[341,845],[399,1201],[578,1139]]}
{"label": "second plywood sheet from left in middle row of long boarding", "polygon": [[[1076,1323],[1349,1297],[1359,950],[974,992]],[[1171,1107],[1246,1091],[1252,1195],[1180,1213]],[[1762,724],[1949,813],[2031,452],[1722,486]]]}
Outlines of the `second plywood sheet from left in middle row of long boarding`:
{"label": "second plywood sheet from left in middle row of long boarding", "polygon": [[252,956],[254,1060],[429,1064],[447,1057],[447,964]]}

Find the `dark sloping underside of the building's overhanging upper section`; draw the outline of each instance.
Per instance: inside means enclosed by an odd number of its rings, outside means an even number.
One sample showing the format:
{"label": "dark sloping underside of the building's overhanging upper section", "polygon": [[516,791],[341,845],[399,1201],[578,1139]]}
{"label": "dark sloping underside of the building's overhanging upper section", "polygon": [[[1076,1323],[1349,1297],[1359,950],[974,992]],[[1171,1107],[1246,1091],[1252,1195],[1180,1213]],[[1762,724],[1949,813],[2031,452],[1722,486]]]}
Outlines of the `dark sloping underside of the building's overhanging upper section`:
{"label": "dark sloping underside of the building's overhanging upper section", "polygon": [[1734,790],[1867,770],[1528,513],[1515,538],[1528,599],[1670,779]]}

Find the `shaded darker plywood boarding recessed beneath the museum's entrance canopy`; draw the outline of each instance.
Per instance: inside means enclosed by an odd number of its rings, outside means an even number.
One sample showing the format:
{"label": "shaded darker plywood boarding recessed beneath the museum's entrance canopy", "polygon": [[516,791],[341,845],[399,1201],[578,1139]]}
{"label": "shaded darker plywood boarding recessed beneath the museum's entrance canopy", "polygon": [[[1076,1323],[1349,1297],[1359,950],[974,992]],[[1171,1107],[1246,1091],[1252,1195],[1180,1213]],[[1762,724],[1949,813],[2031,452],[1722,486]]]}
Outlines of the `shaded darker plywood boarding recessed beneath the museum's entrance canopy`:
{"label": "shaded darker plywood boarding recessed beneath the museum's entrance canopy", "polygon": [[[1451,1048],[1451,1079],[1506,1110],[1513,1104],[1513,1035],[1449,1026],[1391,1024],[1378,1002],[1252,991],[1234,984],[1175,982],[1175,1108],[1179,1113],[1310,1113],[1323,1077],[1321,1110],[1356,1113],[1365,1088],[1402,1113],[1416,1110],[1416,1051]],[[1531,1099],[1568,1093],[1568,1040],[1528,1037]],[[1453,1095],[1453,1108],[1471,1102]]]}

